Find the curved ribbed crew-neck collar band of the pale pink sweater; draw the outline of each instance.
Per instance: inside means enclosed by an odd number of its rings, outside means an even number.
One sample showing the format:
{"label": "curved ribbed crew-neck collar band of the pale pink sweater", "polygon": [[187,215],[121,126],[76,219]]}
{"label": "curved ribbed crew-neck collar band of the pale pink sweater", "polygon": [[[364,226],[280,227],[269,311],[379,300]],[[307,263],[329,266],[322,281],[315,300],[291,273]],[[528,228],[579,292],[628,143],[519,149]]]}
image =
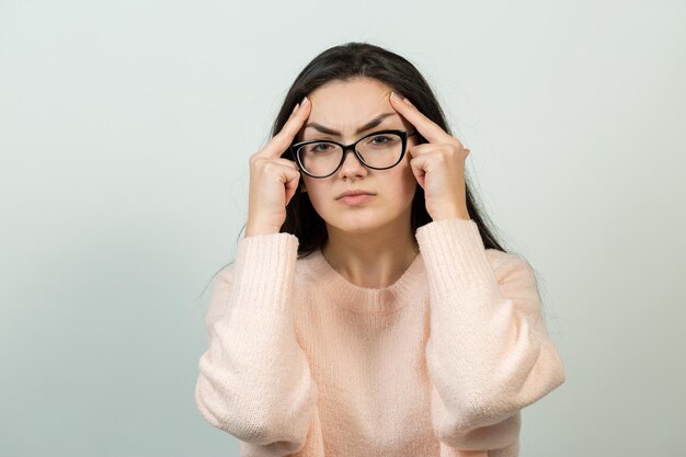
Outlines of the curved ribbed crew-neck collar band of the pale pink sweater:
{"label": "curved ribbed crew-neck collar band of the pale pink sweater", "polygon": [[421,252],[396,282],[389,286],[362,287],[342,276],[317,250],[309,259],[312,281],[339,308],[359,315],[386,315],[414,301],[424,286],[424,261]]}

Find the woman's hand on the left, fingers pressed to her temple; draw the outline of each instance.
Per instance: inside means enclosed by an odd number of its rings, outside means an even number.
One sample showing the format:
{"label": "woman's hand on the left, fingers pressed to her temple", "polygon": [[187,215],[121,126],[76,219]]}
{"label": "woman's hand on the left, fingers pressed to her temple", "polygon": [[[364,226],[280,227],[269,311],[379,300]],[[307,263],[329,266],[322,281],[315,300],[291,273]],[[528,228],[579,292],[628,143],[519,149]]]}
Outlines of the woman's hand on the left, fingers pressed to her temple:
{"label": "woman's hand on the left, fingers pressed to her temple", "polygon": [[305,98],[296,105],[278,134],[250,157],[250,196],[245,237],[278,233],[286,220],[286,205],[298,191],[300,172],[293,160],[281,156],[310,114],[311,103]]}

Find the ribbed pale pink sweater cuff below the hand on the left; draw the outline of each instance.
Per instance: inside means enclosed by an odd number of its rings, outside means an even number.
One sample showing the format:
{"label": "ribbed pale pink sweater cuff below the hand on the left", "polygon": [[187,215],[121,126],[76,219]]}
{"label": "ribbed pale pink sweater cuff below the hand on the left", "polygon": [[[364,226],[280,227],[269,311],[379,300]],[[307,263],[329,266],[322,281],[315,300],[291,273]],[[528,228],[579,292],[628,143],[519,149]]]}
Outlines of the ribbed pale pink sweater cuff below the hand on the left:
{"label": "ribbed pale pink sweater cuff below the hand on the left", "polygon": [[291,233],[243,238],[236,253],[235,287],[238,307],[284,311],[293,289],[298,238]]}

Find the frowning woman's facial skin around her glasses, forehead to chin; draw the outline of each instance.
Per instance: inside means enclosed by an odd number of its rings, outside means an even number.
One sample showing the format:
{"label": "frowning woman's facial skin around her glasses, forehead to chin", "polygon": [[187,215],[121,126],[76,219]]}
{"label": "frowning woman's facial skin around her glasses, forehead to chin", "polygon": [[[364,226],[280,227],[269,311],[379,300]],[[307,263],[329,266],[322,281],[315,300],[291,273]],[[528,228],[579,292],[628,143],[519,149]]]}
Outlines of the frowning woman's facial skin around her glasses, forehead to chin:
{"label": "frowning woman's facial skin around her glasses, forehead to chin", "polygon": [[[331,139],[350,145],[359,138],[382,129],[411,130],[413,126],[391,106],[391,89],[371,78],[350,81],[330,81],[308,94],[312,105],[308,119],[296,136],[296,141]],[[378,116],[374,127],[357,130]],[[312,125],[317,124],[317,125]],[[325,127],[338,134],[322,133]],[[409,149],[418,144],[416,136],[408,137]],[[366,232],[397,225],[410,227],[412,197],[418,182],[410,169],[407,152],[400,163],[387,170],[373,170],[363,165],[351,152],[334,174],[317,179],[300,173],[312,206],[328,226],[345,232]],[[363,190],[374,195],[357,204],[339,199],[342,192]],[[329,227],[331,229],[331,227]]]}

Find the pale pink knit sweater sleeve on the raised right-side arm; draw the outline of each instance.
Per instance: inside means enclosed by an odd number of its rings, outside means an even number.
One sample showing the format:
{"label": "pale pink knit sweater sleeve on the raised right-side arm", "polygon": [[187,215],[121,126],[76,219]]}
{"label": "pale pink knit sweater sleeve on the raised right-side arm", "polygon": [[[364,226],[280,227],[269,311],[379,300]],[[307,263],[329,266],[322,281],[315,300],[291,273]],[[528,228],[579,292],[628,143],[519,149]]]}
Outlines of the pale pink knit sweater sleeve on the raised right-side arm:
{"label": "pale pink knit sweater sleeve on the raised right-side arm", "polygon": [[565,378],[534,271],[514,254],[487,252],[472,219],[432,221],[416,239],[431,302],[425,356],[434,432],[465,450],[513,446],[519,410]]}

